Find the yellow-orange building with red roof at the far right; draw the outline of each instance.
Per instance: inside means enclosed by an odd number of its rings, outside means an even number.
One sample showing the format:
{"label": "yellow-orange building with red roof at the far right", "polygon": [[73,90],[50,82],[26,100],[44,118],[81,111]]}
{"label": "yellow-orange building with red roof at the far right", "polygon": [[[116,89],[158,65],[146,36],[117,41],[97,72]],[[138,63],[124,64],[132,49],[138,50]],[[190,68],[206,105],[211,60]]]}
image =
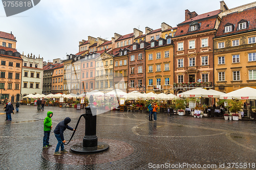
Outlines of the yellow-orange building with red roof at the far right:
{"label": "yellow-orange building with red roof at the far right", "polygon": [[256,88],[256,9],[222,17],[214,38],[215,89]]}

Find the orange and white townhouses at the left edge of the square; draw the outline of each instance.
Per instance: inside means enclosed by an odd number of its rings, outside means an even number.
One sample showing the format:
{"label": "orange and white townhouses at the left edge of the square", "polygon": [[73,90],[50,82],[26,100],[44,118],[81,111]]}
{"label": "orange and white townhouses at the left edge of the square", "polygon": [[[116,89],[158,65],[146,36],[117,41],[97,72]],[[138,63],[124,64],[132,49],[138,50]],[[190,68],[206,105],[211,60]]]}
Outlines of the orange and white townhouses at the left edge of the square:
{"label": "orange and white townhouses at the left edge of the square", "polygon": [[[42,62],[40,56],[28,57],[16,50],[16,37],[0,31],[0,91],[1,102],[20,101],[22,96],[42,92]],[[0,103],[1,103],[0,102]]]}

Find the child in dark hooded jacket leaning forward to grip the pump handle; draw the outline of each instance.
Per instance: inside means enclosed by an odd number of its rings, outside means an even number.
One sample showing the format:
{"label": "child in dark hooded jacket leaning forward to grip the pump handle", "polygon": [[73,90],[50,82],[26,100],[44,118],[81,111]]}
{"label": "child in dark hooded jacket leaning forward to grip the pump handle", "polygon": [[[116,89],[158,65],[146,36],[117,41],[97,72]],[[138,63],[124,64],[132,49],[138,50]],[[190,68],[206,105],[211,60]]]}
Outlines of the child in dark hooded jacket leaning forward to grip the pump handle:
{"label": "child in dark hooded jacket leaning forward to grip the pump handle", "polygon": [[[56,139],[58,140],[58,144],[56,146],[56,149],[55,149],[55,152],[53,155],[61,155],[60,152],[62,153],[68,153],[68,151],[66,151],[64,149],[64,144],[66,142],[66,140],[64,139],[64,136],[63,136],[63,132],[66,130],[66,129],[69,129],[69,130],[73,130],[75,131],[75,129],[71,128],[70,126],[68,126],[68,124],[71,122],[71,118],[69,117],[66,117],[64,120],[62,120],[60,123],[58,123],[58,125],[56,126],[56,128],[54,129],[54,135],[56,137]],[[59,147],[60,147],[60,152],[59,152]]]}

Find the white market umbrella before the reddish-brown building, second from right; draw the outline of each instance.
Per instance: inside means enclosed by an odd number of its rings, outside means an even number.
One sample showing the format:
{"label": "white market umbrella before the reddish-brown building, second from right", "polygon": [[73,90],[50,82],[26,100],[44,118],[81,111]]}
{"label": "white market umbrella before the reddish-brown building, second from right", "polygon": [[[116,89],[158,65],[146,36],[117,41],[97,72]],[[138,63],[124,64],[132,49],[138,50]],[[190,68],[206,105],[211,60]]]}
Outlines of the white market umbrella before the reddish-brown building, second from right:
{"label": "white market umbrella before the reddish-brown building, second from right", "polygon": [[177,96],[184,98],[219,98],[220,95],[199,87],[185,91],[183,93],[179,93]]}

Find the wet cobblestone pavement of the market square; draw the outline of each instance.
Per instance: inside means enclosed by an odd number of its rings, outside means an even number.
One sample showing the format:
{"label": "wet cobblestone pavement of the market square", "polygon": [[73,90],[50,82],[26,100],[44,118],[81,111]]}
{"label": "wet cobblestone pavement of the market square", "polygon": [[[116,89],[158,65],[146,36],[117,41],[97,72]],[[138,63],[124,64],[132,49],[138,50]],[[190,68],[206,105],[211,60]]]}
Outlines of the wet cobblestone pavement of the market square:
{"label": "wet cobblestone pavement of the market square", "polygon": [[[2,105],[0,110],[3,112]],[[0,113],[0,169],[174,169],[157,164],[179,163],[216,164],[216,167],[175,169],[227,169],[228,163],[243,163],[241,169],[255,169],[251,165],[256,163],[256,123],[251,121],[170,117],[160,113],[157,122],[149,122],[145,112],[112,111],[97,115],[97,137],[109,143],[109,151],[93,155],[69,151],[53,156],[57,144],[53,132],[50,135],[53,147],[42,150],[47,111],[54,113],[54,129],[67,116],[71,118],[69,126],[75,128],[84,110],[46,107],[45,111],[37,112],[35,106],[21,105],[19,113],[12,115],[12,122],[5,121],[6,115]],[[66,140],[71,135],[71,131],[65,131]],[[65,148],[68,150],[72,143],[82,142],[83,136],[82,118]],[[225,167],[220,167],[223,163]]]}

